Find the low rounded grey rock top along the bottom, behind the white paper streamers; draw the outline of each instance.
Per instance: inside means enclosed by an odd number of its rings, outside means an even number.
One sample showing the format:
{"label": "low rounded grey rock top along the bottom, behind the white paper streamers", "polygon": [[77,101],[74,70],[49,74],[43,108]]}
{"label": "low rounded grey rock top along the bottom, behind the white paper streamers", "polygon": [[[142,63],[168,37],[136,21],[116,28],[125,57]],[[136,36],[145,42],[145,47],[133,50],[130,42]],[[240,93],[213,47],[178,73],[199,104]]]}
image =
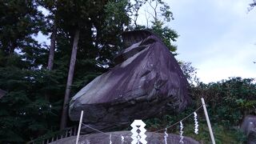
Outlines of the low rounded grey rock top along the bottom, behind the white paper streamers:
{"label": "low rounded grey rock top along the bottom, behind the white paper streamers", "polygon": [[[79,144],[109,144],[110,143],[110,136],[111,134],[111,142],[113,144],[121,144],[121,135],[124,136],[124,142],[122,144],[130,144],[132,142],[132,138],[130,138],[131,133],[130,131],[118,131],[118,132],[111,132],[106,134],[86,134],[81,135],[79,137]],[[165,134],[160,133],[146,133],[146,141],[148,144],[164,144],[164,136]],[[168,144],[178,144],[179,143],[179,136],[176,134],[168,134],[167,143]],[[76,136],[63,138],[61,140],[51,142],[50,144],[71,144],[75,143]],[[184,137],[183,139],[184,144],[199,144],[199,142],[195,141],[192,138]]]}

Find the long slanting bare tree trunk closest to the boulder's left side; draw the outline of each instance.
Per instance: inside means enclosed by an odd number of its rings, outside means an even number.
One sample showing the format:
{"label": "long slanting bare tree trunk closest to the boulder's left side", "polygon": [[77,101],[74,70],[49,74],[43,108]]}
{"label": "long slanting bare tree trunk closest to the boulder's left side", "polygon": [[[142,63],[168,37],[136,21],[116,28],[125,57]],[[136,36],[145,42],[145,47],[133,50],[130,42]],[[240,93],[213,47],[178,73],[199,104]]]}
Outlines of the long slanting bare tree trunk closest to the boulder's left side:
{"label": "long slanting bare tree trunk closest to the boulder's left side", "polygon": [[60,125],[61,130],[63,130],[66,127],[66,122],[67,122],[68,103],[69,103],[70,90],[71,90],[71,85],[72,85],[73,75],[74,75],[74,65],[75,65],[77,52],[78,52],[79,33],[80,33],[80,30],[75,30],[72,54],[70,58],[70,70],[69,70],[69,74],[66,82],[66,91],[65,91],[63,109],[62,109],[62,119],[61,119],[61,125]]}

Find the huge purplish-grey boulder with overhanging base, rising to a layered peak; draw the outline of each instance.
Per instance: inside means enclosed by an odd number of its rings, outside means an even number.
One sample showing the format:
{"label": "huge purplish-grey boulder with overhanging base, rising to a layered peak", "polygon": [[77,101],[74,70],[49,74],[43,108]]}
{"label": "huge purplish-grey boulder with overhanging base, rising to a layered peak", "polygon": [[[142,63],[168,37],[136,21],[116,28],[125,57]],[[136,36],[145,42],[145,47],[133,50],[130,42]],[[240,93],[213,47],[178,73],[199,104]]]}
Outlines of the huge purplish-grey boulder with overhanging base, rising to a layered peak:
{"label": "huge purplish-grey boulder with overhanging base, rising to a layered peak", "polygon": [[[83,87],[70,101],[70,119],[98,130],[128,126],[146,119],[179,112],[190,103],[188,83],[170,50],[145,30],[122,35],[130,45],[115,58],[118,64]],[[90,129],[82,127],[82,131]]]}

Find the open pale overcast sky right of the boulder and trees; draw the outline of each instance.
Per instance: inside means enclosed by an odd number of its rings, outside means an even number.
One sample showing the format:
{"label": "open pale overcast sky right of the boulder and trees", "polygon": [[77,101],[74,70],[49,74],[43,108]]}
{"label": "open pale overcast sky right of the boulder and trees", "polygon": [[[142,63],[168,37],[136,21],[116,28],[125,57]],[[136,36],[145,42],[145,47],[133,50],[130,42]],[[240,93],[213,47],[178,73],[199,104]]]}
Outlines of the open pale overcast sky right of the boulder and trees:
{"label": "open pale overcast sky right of the boulder and trees", "polygon": [[256,78],[256,9],[252,0],[170,0],[178,59],[192,62],[202,82]]}

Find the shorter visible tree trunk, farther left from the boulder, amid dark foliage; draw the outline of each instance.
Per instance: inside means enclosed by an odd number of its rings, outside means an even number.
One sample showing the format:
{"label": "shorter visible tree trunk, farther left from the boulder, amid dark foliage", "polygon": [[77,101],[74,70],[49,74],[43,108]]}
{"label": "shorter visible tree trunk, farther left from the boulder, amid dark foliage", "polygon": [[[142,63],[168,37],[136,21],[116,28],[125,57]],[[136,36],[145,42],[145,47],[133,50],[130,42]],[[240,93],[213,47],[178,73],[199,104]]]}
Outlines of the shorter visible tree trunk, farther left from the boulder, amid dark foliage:
{"label": "shorter visible tree trunk, farther left from the boulder, amid dark foliage", "polygon": [[54,27],[53,27],[53,33],[50,35],[50,53],[49,53],[49,58],[48,58],[47,70],[53,70],[56,34],[57,34],[57,28],[56,28],[56,26],[54,25]]}

